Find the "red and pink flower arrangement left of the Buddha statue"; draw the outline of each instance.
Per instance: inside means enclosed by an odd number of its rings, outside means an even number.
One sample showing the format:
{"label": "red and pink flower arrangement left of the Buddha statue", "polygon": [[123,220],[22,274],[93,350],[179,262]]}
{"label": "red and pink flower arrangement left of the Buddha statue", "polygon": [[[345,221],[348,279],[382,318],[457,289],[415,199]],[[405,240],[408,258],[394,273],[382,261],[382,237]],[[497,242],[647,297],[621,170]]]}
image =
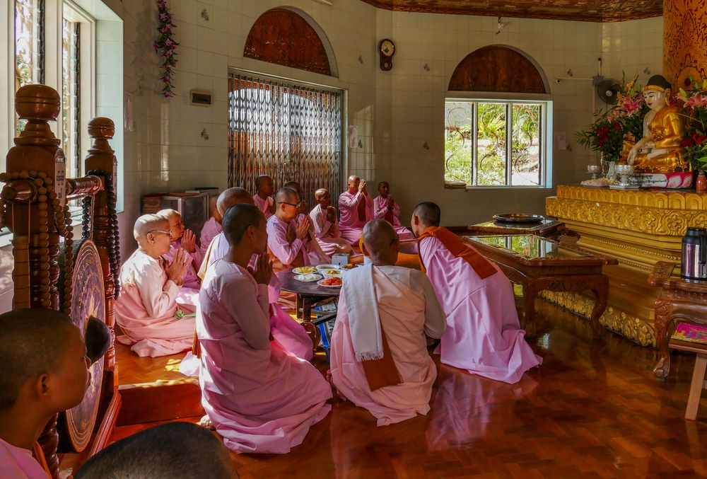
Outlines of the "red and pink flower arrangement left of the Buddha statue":
{"label": "red and pink flower arrangement left of the Buddha statue", "polygon": [[641,86],[636,78],[629,83],[621,82],[621,91],[617,94],[617,104],[597,115],[588,130],[575,134],[577,143],[592,151],[599,151],[608,161],[619,160],[624,150],[624,138],[635,142],[643,137],[643,117],[648,106],[643,100]]}

